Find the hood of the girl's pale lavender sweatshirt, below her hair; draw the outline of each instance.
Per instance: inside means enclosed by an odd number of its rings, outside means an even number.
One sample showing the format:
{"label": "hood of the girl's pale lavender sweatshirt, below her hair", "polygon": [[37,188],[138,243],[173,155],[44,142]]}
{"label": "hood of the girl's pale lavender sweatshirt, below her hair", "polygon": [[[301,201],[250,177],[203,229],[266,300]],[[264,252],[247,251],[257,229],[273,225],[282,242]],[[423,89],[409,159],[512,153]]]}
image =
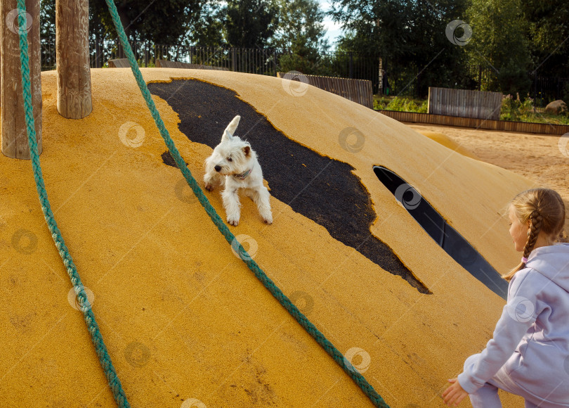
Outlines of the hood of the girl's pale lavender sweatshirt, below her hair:
{"label": "hood of the girl's pale lavender sweatshirt, below her hair", "polygon": [[535,269],[569,292],[569,243],[556,243],[532,250],[525,267]]}

